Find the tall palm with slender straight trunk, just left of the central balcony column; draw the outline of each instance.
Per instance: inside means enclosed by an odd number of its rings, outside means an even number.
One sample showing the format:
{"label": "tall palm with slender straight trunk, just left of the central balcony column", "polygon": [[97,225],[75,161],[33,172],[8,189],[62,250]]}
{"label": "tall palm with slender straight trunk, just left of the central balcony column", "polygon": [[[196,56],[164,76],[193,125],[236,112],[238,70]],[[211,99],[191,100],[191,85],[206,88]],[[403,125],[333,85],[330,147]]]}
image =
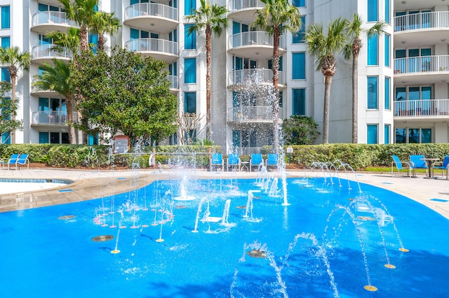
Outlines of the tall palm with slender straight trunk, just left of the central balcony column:
{"label": "tall palm with slender straight trunk, just left of the central balcony column", "polygon": [[206,139],[210,140],[210,52],[212,50],[210,40],[212,34],[220,36],[223,29],[227,27],[228,11],[225,6],[210,5],[206,0],[200,0],[200,3],[199,9],[195,9],[193,15],[187,15],[185,18],[187,22],[194,22],[194,25],[188,29],[189,34],[203,30],[206,33]]}

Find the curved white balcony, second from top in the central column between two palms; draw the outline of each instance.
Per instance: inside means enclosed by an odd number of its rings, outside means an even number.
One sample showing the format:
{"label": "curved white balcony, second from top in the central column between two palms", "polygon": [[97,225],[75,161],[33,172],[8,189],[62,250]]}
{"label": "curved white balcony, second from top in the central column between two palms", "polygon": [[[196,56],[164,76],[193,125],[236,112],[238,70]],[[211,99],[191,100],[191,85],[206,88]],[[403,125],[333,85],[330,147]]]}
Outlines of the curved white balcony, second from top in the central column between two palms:
{"label": "curved white balcony, second from top in the central column between two palms", "polygon": [[[248,31],[229,36],[228,52],[254,59],[271,59],[273,57],[273,36],[265,31]],[[286,52],[285,38],[279,40],[279,55]]]}

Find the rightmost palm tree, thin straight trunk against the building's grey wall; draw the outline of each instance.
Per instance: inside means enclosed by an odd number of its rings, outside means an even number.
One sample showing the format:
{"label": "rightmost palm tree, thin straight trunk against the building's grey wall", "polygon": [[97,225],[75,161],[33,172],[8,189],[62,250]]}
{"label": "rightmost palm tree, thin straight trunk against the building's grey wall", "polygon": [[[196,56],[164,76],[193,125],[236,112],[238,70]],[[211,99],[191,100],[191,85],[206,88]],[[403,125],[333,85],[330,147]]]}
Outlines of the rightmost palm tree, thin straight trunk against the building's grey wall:
{"label": "rightmost palm tree, thin straight trunk against the building's grey wall", "polygon": [[354,13],[352,20],[347,21],[347,29],[351,41],[344,48],[344,57],[352,57],[352,143],[357,143],[358,127],[358,54],[362,48],[361,34],[366,34],[368,38],[384,34],[385,22],[377,21],[373,27],[363,29],[363,20],[360,15]]}

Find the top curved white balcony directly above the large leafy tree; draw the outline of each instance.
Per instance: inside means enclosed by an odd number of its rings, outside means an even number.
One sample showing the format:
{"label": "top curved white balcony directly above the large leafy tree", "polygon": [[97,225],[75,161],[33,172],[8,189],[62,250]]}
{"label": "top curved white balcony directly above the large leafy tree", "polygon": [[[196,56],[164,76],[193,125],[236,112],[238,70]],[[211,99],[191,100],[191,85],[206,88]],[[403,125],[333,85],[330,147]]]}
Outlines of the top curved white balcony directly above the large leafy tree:
{"label": "top curved white balcony directly above the large leafy tree", "polygon": [[159,3],[139,3],[125,9],[123,24],[154,33],[168,33],[178,25],[177,8]]}

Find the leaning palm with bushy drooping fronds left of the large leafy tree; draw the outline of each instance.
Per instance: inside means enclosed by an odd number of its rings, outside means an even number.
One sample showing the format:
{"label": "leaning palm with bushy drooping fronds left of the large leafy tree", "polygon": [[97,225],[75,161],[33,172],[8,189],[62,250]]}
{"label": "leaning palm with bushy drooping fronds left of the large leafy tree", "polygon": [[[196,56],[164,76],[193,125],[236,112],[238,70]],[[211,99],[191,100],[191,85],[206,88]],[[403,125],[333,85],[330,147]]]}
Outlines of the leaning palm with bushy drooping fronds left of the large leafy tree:
{"label": "leaning palm with bushy drooping fronds left of the large leafy tree", "polygon": [[67,106],[67,124],[69,125],[69,143],[75,141],[75,130],[73,127],[73,106],[76,87],[72,83],[72,71],[69,64],[60,59],[53,59],[53,64],[43,62],[40,66],[42,73],[36,74],[36,79],[32,84],[38,90],[51,90],[58,92],[65,97]]}

